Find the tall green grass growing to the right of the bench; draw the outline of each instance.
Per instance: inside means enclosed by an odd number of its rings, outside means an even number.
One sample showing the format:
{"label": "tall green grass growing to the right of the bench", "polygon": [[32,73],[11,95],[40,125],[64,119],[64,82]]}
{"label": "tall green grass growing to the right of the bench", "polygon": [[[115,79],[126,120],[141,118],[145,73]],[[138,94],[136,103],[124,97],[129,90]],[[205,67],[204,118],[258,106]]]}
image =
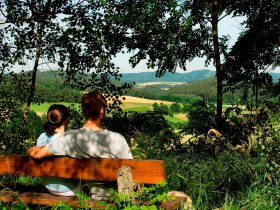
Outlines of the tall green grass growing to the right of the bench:
{"label": "tall green grass growing to the right of the bench", "polygon": [[257,157],[223,152],[218,157],[167,157],[165,162],[168,190],[187,193],[194,209],[280,209],[279,179],[271,180]]}

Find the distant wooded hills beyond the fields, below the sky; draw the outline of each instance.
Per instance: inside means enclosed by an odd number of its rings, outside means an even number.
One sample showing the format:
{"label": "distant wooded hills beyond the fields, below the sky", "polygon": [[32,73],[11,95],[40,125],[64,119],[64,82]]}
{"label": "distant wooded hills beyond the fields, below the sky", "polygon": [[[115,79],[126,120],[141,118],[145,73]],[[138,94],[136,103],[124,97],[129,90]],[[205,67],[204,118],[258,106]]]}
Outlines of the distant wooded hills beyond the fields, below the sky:
{"label": "distant wooded hills beyond the fields, below the sky", "polygon": [[[273,80],[280,78],[280,73],[274,73]],[[122,74],[122,81],[135,82],[127,95],[166,100],[172,102],[188,103],[195,99],[207,102],[216,101],[216,79],[215,72],[210,70],[197,70],[186,73],[167,73],[164,77],[156,78],[153,72]],[[140,86],[147,82],[155,84]],[[173,84],[170,84],[173,82]],[[178,85],[174,85],[178,82]],[[184,83],[184,84],[182,84]],[[81,90],[73,89],[63,84],[63,76],[58,71],[38,72],[37,88],[35,98],[37,102],[78,102]],[[227,104],[240,103],[240,94],[226,92],[224,102]]]}

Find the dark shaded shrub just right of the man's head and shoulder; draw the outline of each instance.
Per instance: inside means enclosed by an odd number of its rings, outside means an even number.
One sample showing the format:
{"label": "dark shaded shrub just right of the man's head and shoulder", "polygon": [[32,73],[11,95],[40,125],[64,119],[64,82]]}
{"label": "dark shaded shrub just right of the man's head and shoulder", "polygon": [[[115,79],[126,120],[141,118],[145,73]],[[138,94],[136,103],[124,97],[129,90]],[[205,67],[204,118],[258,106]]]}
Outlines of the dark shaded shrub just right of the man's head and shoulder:
{"label": "dark shaded shrub just right of the man's head and shoulder", "polygon": [[161,150],[164,150],[164,145],[168,145],[168,147],[179,146],[179,136],[174,133],[174,130],[160,112],[115,111],[105,118],[104,126],[124,135],[129,144],[132,139],[147,137],[154,139],[155,147],[163,146]]}

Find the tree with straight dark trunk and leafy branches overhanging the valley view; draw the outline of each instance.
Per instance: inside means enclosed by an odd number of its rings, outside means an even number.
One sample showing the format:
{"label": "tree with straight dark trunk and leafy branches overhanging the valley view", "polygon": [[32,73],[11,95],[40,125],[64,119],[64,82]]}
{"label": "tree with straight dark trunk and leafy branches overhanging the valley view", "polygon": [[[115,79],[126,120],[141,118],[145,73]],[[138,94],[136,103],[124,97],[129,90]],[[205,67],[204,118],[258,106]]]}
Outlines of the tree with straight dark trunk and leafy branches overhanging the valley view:
{"label": "tree with straight dark trunk and leafy branches overhanging the valley view", "polygon": [[126,47],[134,55],[133,66],[147,60],[157,76],[186,70],[189,61],[205,57],[216,66],[217,122],[222,115],[223,77],[221,54],[225,37],[219,39],[218,22],[231,1],[119,1],[117,20],[128,27]]}

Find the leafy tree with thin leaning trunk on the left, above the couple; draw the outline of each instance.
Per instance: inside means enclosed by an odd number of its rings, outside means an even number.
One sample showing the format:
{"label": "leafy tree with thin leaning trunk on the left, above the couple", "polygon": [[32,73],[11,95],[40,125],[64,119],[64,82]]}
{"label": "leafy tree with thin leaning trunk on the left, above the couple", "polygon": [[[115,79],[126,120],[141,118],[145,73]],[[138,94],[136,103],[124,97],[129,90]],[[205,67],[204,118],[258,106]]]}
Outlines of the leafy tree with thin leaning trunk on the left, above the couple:
{"label": "leafy tree with thin leaning trunk on the left, above the couple", "polygon": [[[119,79],[112,57],[119,51],[120,27],[111,27],[109,10],[99,1],[1,1],[0,76],[13,67],[28,71],[26,112],[34,100],[40,66],[55,64],[72,87],[102,89],[108,98],[129,84]],[[121,43],[121,42],[120,42]],[[85,76],[86,75],[86,76]]]}

